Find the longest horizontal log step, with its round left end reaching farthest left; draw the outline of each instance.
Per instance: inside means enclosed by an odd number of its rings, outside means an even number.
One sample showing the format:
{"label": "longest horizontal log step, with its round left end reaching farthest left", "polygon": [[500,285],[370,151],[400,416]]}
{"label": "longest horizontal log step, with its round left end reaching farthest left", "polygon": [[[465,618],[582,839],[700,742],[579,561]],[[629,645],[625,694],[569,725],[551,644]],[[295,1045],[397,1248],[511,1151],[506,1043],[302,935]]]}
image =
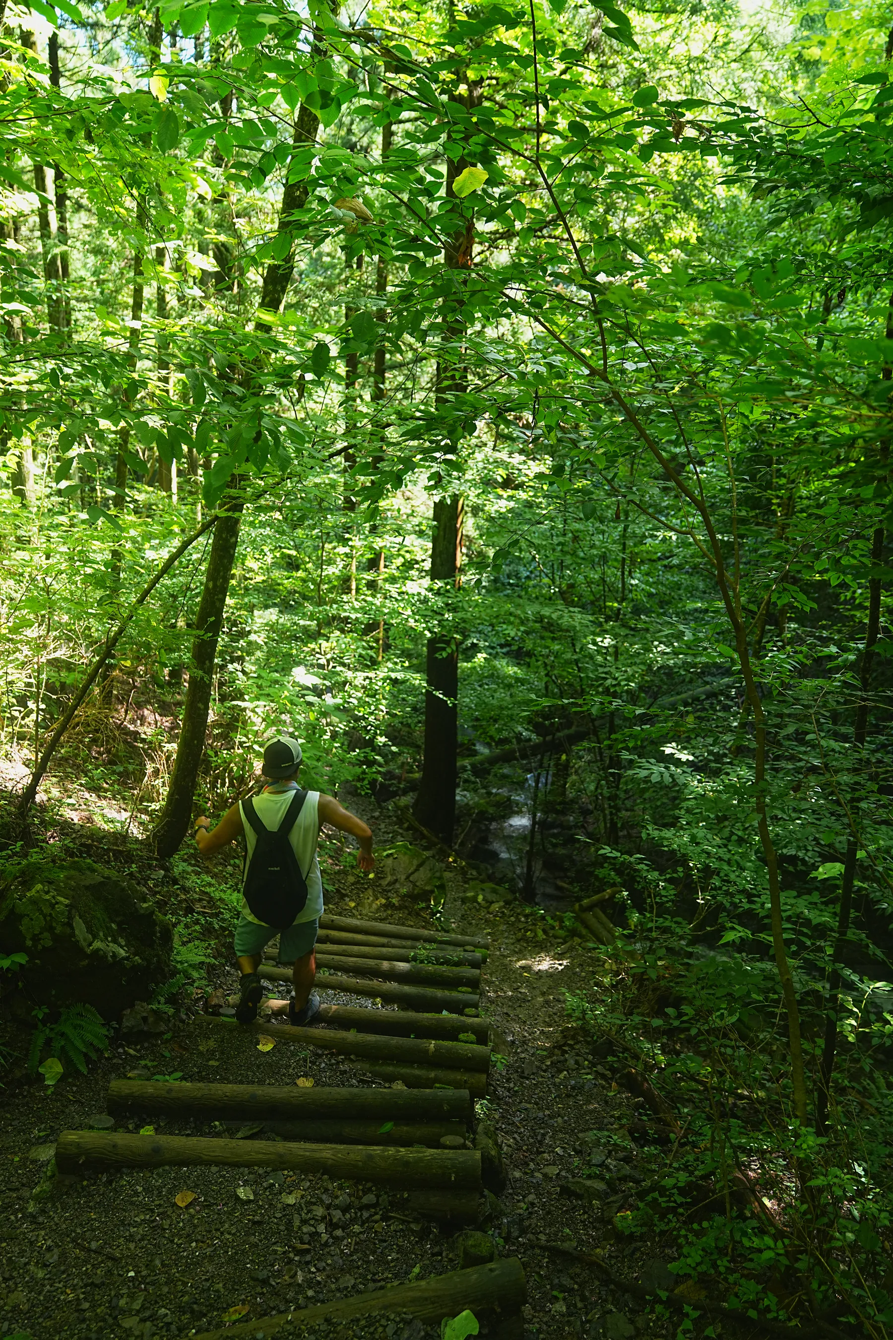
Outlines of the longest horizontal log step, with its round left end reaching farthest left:
{"label": "longest horizontal log step, with its round left end reaching farthest left", "polygon": [[281,1168],[406,1187],[481,1186],[477,1150],[384,1150],[110,1131],[63,1131],[56,1140],[56,1170],[63,1175],[94,1168],[208,1166]]}

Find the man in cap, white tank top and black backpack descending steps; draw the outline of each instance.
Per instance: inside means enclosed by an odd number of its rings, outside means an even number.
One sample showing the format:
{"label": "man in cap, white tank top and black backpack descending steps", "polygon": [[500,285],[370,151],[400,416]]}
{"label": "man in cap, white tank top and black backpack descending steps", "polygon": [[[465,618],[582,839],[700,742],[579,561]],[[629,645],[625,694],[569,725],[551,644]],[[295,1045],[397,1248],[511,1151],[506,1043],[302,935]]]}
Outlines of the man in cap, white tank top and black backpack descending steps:
{"label": "man in cap, white tank top and black backpack descending steps", "polygon": [[[276,934],[276,925],[280,927],[278,961],[282,965],[293,963],[295,996],[289,1001],[288,1021],[307,1025],[319,1014],[319,997],[311,992],[316,977],[316,934],[323,915],[323,880],[316,855],[321,825],[331,824],[357,838],[360,843],[356,854],[357,866],[363,871],[375,867],[372,831],[361,819],[339,805],[333,796],[323,796],[319,791],[301,792],[297,785],[300,766],[301,746],[297,740],[292,740],[291,736],[270,740],[264,749],[266,785],[261,795],[253,801],[246,800],[233,805],[213,829],[204,815],[195,823],[195,842],[202,856],[210,856],[240,836],[244,836],[246,843],[242,909],[236,927],[236,958],[242,974],[241,996],[236,1009],[240,1024],[250,1024],[257,1018],[257,1006],[264,993],[257,969],[264,958],[265,945]],[[300,871],[300,878],[282,876],[280,886],[273,888],[272,895],[264,902],[256,892],[258,882],[252,876],[252,858],[260,840],[260,856],[264,859],[264,852],[268,850],[266,835],[276,833],[280,825],[288,828],[288,843],[295,854],[296,866],[288,851],[285,856],[292,862],[292,870]],[[278,842],[281,840],[280,838]],[[278,866],[272,868],[278,878]],[[249,906],[249,899],[254,911]],[[265,910],[268,917],[274,918],[276,925],[265,922],[258,915]]]}

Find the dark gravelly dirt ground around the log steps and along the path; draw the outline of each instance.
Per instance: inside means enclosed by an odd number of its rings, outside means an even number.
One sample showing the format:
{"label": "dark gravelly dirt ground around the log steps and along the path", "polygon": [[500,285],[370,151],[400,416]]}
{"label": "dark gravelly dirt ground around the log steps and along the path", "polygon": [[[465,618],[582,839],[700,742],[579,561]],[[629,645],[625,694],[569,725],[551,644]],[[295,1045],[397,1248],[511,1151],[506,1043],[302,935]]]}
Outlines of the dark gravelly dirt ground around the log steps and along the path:
{"label": "dark gravelly dirt ground around the log steps and along the path", "polygon": [[[359,801],[356,808],[366,811],[376,843],[418,840],[400,831],[390,808],[379,812]],[[232,921],[233,902],[222,903],[217,892],[232,888],[234,862],[218,858],[209,874],[187,852],[165,867],[130,839],[96,828],[72,827],[67,842],[82,855],[126,864],[175,921],[216,930],[221,959],[209,977],[225,993],[234,989],[236,969],[232,958],[225,961],[226,917],[220,915],[225,906]],[[320,855],[327,910],[431,925],[430,903],[399,890],[387,894],[375,879],[348,867],[336,842],[324,840]],[[592,1053],[593,1040],[569,1021],[568,996],[592,989],[593,950],[544,937],[537,930],[541,919],[517,903],[487,910],[466,903],[462,871],[447,866],[444,874],[440,925],[482,931],[491,942],[482,1013],[493,1021],[499,1059],[478,1114],[497,1126],[502,1143],[509,1178],[491,1231],[501,1254],[517,1254],[523,1262],[526,1336],[671,1335],[673,1328],[655,1308],[631,1304],[590,1265],[554,1252],[598,1249],[617,1276],[637,1280],[644,1272],[653,1285],[673,1286],[667,1270],[672,1249],[633,1242],[615,1227],[624,1187],[648,1179],[655,1155],[629,1134],[637,1104],[612,1084]],[[323,990],[323,980],[317,985],[321,1000],[344,1000]],[[59,1132],[88,1128],[102,1116],[114,1077],[293,1084],[307,1076],[328,1085],[380,1084],[329,1053],[285,1043],[261,1052],[257,1037],[236,1026],[212,1032],[191,1021],[199,1009],[198,1000],[187,1004],[167,1018],[163,1033],[151,1037],[115,1032],[110,1051],[86,1076],[66,1075],[51,1089],[13,1067],[0,1089],[0,1335],[186,1336],[220,1327],[233,1308],[240,1315],[232,1320],[260,1321],[457,1268],[453,1233],[388,1209],[380,1189],[320,1177],[158,1168],[55,1185],[35,1197]],[[23,1051],[21,1032],[9,1025],[0,1043]],[[189,1122],[146,1119],[146,1124],[158,1134],[210,1134]],[[123,1122],[118,1128],[141,1130],[142,1123]],[[194,1199],[181,1209],[175,1197],[185,1190]]]}

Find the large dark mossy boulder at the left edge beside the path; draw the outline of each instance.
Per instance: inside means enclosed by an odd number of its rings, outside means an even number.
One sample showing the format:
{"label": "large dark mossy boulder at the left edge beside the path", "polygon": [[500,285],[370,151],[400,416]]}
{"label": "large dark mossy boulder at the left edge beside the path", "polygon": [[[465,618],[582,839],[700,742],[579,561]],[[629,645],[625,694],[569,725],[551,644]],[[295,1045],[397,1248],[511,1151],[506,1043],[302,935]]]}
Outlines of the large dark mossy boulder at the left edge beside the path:
{"label": "large dark mossy boulder at the left edge beside the path", "polygon": [[16,984],[50,1005],[114,1018],[167,980],[171,947],[170,923],[115,871],[52,856],[7,867],[0,953],[28,955]]}

